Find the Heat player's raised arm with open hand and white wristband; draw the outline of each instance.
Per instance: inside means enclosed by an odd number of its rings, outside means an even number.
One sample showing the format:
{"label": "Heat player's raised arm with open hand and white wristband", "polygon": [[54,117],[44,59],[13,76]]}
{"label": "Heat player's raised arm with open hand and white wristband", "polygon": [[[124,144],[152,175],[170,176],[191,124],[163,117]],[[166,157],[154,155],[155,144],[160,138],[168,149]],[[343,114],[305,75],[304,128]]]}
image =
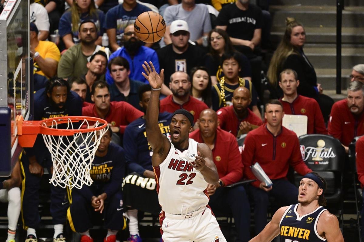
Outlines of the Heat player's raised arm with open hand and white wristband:
{"label": "Heat player's raised arm with open hand and white wristband", "polygon": [[164,69],[162,69],[161,73],[158,74],[157,71],[155,71],[154,65],[151,61],[149,64],[145,61],[142,66],[145,71],[145,73],[142,74],[152,87],[147,112],[145,114],[145,128],[147,132],[147,140],[150,144],[150,147],[153,149],[152,165],[156,167],[166,159],[171,146],[167,137],[161,133],[161,129],[158,125],[159,94],[161,93],[160,89],[163,84]]}

